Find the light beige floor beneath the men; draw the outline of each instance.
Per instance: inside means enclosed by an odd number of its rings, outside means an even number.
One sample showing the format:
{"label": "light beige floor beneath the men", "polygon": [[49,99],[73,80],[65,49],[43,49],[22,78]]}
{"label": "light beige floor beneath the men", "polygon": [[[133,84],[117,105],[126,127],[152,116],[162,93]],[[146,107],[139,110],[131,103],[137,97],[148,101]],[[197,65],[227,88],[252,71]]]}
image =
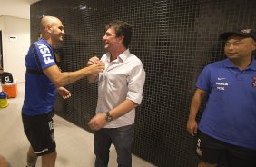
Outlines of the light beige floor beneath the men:
{"label": "light beige floor beneath the men", "polygon": [[[8,99],[9,106],[0,108],[0,154],[5,157],[10,167],[25,167],[26,151],[29,143],[23,132],[21,106],[24,99],[24,83],[18,84],[16,98]],[[57,167],[93,167],[94,150],[93,134],[54,117],[54,132],[57,144]],[[38,159],[37,167],[41,166]],[[110,150],[110,167],[117,166],[116,152]],[[149,162],[133,155],[133,167],[153,167]]]}

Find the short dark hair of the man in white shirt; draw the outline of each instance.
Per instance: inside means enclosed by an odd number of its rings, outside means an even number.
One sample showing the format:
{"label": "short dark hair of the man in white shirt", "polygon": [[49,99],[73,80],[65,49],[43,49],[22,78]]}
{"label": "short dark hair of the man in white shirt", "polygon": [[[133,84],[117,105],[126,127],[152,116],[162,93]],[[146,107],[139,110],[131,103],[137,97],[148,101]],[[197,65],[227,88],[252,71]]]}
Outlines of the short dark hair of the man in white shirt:
{"label": "short dark hair of the man in white shirt", "polygon": [[114,28],[117,37],[123,35],[123,45],[128,48],[133,34],[132,25],[128,24],[127,22],[116,20],[106,25],[105,29],[107,30],[111,27]]}

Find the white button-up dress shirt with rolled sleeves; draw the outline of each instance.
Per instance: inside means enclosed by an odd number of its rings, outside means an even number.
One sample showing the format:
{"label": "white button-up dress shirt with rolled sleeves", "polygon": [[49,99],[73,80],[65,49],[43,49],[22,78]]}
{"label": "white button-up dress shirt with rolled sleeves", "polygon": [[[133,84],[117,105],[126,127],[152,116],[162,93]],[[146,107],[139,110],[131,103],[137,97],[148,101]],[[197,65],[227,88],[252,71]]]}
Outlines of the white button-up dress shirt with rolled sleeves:
{"label": "white button-up dress shirt with rolled sleeves", "polygon": [[[140,104],[143,99],[145,71],[141,60],[129,49],[110,62],[110,53],[101,58],[105,70],[98,75],[98,103],[96,113],[106,113],[124,100]],[[107,123],[104,128],[118,128],[134,123],[135,109]]]}

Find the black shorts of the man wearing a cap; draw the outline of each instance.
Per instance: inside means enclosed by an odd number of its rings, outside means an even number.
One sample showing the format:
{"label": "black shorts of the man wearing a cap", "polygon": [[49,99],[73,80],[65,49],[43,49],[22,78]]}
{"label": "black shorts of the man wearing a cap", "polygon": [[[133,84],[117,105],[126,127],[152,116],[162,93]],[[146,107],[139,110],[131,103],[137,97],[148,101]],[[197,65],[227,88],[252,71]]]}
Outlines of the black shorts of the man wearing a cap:
{"label": "black shorts of the man wearing a cap", "polygon": [[203,162],[218,167],[256,167],[256,150],[221,142],[198,132],[196,153]]}

